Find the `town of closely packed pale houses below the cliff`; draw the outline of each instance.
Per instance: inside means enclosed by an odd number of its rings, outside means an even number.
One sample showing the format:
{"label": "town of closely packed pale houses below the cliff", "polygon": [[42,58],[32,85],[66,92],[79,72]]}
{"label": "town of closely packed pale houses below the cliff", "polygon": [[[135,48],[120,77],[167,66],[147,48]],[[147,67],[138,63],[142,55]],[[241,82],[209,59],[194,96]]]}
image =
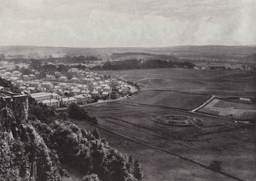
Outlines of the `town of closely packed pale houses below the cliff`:
{"label": "town of closely packed pale houses below the cliff", "polygon": [[[20,69],[29,69],[30,74],[26,75],[19,71]],[[77,105],[97,103],[132,96],[138,91],[132,82],[127,83],[89,69],[70,68],[67,73],[68,76],[56,71],[52,75],[45,74],[45,78],[42,78],[41,72],[31,68],[29,63],[0,62],[2,78],[10,80],[13,85],[19,87],[22,94],[28,94],[38,103],[49,107],[67,107],[71,103]]]}

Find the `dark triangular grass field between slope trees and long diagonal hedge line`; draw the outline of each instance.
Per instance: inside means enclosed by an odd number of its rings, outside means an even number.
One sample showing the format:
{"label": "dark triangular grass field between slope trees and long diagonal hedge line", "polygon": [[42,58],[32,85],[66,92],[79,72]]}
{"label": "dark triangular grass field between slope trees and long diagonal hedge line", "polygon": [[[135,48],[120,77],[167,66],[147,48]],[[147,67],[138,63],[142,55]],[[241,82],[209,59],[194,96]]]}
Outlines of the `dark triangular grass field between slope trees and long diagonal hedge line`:
{"label": "dark triangular grass field between slope trees and long diagonal hedge line", "polygon": [[[95,128],[86,122],[74,122],[84,129],[93,130]],[[227,177],[215,173],[214,171],[206,170],[201,166],[189,163],[188,161],[161,152],[160,150],[127,140],[116,134],[104,131],[104,129],[98,130],[102,137],[107,138],[111,147],[120,150],[122,153],[126,153],[128,156],[131,155],[134,159],[139,159],[143,166],[143,180],[228,180]],[[76,171],[70,172],[70,175],[72,178],[75,178],[74,181],[78,181],[78,179],[82,178],[82,175],[76,173]]]}

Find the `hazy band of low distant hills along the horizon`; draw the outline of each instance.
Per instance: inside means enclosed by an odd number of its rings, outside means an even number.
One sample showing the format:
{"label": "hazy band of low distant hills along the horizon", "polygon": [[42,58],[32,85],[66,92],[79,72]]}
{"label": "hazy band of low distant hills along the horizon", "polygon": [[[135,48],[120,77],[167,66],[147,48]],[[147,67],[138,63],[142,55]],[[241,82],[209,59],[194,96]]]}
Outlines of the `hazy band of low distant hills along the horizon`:
{"label": "hazy band of low distant hills along the horizon", "polygon": [[[243,57],[256,53],[256,46],[176,46],[156,48],[67,48],[67,47],[35,47],[35,46],[1,46],[0,54],[6,57],[61,57],[64,55],[94,55],[102,59],[111,59],[111,55],[129,52],[142,52],[158,55],[175,55],[177,57],[211,57],[211,56],[233,56]],[[120,57],[120,56],[117,56]],[[122,57],[122,56],[121,56]]]}

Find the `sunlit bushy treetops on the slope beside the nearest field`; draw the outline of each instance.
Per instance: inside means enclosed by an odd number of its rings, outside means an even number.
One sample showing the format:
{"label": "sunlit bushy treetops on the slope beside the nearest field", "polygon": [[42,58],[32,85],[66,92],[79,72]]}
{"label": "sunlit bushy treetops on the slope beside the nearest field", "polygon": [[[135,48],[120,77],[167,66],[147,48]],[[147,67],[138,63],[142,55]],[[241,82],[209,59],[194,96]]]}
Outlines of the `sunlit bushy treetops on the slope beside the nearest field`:
{"label": "sunlit bushy treetops on the slope beside the nearest field", "polygon": [[[95,133],[80,129],[72,122],[54,120],[44,124],[33,122],[46,145],[56,150],[60,161],[71,164],[86,175],[97,174],[100,180],[141,180],[138,163],[131,165],[127,156],[108,146],[106,139],[95,138]],[[133,167],[134,170],[127,168]],[[135,176],[136,175],[136,176]]]}

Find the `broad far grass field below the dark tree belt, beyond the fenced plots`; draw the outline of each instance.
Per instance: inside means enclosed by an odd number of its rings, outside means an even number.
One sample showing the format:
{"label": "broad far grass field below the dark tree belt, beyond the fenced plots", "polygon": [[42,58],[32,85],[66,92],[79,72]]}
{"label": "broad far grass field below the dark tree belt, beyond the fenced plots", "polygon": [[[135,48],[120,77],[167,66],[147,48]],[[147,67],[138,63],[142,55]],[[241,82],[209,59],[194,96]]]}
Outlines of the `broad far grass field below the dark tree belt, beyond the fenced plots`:
{"label": "broad far grass field below the dark tree belt, beyond the fenced plots", "polygon": [[218,96],[256,96],[256,71],[218,71],[183,68],[100,71],[137,82],[141,89],[214,94]]}

